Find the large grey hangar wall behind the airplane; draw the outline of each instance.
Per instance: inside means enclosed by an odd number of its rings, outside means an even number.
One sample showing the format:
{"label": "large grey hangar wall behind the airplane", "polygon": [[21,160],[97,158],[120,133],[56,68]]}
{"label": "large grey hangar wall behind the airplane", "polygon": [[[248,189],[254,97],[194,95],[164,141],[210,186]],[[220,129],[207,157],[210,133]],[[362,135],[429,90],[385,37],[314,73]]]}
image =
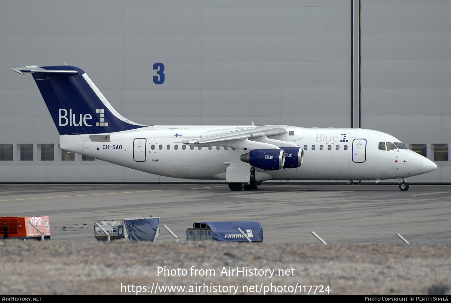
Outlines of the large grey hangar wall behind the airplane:
{"label": "large grey hangar wall behind the airplane", "polygon": [[[78,66],[140,124],[351,127],[353,3],[2,1],[0,144],[13,157],[0,155],[0,181],[159,179],[64,156],[32,77],[10,66]],[[451,144],[451,1],[362,0],[359,12],[360,126],[426,144],[434,160],[432,144]],[[41,161],[41,144],[54,144],[54,161]],[[409,181],[451,182],[449,161],[436,163]]]}

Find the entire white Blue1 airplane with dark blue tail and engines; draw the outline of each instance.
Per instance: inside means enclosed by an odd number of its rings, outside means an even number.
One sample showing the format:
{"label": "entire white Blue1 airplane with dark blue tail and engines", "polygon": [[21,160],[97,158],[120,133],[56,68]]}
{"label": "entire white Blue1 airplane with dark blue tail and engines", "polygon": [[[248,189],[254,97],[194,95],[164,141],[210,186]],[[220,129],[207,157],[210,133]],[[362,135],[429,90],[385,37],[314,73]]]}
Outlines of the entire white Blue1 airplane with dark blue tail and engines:
{"label": "entire white Blue1 airplane with dark blue tail and engines", "polygon": [[287,125],[146,126],[120,115],[76,66],[30,65],[60,147],[150,174],[221,179],[231,190],[266,180],[380,180],[435,170],[395,137],[370,129]]}

